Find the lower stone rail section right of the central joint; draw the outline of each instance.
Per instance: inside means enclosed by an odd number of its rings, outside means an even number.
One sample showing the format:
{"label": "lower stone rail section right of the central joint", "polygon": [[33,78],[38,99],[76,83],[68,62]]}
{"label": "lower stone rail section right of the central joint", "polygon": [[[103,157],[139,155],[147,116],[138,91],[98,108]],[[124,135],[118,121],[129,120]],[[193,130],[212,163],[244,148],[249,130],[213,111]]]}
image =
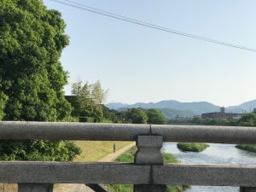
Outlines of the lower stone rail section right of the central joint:
{"label": "lower stone rail section right of the central joint", "polygon": [[159,184],[256,187],[256,166],[180,164],[153,166],[153,182]]}

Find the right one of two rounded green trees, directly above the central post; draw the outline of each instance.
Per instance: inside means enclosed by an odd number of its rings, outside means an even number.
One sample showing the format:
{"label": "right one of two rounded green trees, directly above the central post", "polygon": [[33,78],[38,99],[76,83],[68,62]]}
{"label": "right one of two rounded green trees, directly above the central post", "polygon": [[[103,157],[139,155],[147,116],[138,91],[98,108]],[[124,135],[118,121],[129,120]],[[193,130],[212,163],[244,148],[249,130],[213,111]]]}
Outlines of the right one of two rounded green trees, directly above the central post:
{"label": "right one of two rounded green trees, directly above the central post", "polygon": [[166,124],[166,117],[160,109],[151,108],[147,110],[148,124]]}

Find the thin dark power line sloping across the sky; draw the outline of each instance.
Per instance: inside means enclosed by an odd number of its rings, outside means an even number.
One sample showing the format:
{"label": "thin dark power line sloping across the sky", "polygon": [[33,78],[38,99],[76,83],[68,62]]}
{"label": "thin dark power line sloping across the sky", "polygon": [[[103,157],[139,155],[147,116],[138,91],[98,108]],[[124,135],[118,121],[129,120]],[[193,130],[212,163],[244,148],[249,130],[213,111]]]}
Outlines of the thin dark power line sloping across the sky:
{"label": "thin dark power line sloping across the sky", "polygon": [[247,47],[244,47],[244,46],[241,46],[241,45],[238,45],[238,44],[230,44],[230,43],[218,41],[218,40],[215,40],[215,39],[212,39],[212,38],[205,38],[205,37],[201,37],[201,36],[196,36],[196,35],[186,33],[186,32],[180,32],[180,31],[177,31],[177,30],[174,30],[174,29],[166,28],[164,26],[158,26],[158,25],[154,25],[154,24],[151,24],[151,23],[148,23],[148,22],[144,22],[142,20],[136,20],[136,19],[132,19],[130,17],[126,17],[126,16],[123,16],[123,15],[113,14],[111,12],[108,12],[108,11],[105,11],[105,10],[102,10],[102,9],[96,9],[96,8],[84,5],[82,3],[75,3],[75,2],[70,1],[70,0],[49,0],[49,1],[64,4],[64,5],[67,5],[69,7],[73,7],[75,9],[81,9],[81,10],[91,12],[91,13],[94,13],[94,14],[97,14],[97,15],[107,16],[107,17],[110,17],[110,18],[113,18],[113,19],[116,19],[116,20],[123,20],[123,21],[126,21],[126,22],[137,24],[139,26],[146,26],[146,27],[149,27],[149,28],[160,30],[162,32],[170,32],[170,33],[177,34],[177,35],[180,35],[180,36],[184,36],[184,37],[187,37],[187,38],[195,38],[195,39],[198,39],[198,40],[201,40],[201,41],[206,41],[206,42],[209,42],[209,43],[212,43],[212,44],[220,44],[220,45],[224,45],[224,46],[228,46],[228,47],[233,47],[233,48],[236,48],[236,49],[244,49],[244,50],[256,52],[256,49],[247,48]]}

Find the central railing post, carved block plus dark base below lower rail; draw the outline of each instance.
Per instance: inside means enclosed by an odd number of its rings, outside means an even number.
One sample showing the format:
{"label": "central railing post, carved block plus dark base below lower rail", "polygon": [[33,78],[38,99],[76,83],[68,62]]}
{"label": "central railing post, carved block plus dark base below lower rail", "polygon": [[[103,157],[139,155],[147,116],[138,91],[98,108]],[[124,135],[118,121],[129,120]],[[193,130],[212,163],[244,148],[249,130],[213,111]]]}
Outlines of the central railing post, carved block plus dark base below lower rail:
{"label": "central railing post, carved block plus dark base below lower rail", "polygon": [[[160,148],[163,145],[162,136],[138,136],[137,153],[135,164],[143,166],[162,166],[164,165],[163,156]],[[151,169],[152,170],[152,169]],[[154,184],[153,172],[150,172],[149,184],[135,184],[134,192],[166,192],[166,184]]]}

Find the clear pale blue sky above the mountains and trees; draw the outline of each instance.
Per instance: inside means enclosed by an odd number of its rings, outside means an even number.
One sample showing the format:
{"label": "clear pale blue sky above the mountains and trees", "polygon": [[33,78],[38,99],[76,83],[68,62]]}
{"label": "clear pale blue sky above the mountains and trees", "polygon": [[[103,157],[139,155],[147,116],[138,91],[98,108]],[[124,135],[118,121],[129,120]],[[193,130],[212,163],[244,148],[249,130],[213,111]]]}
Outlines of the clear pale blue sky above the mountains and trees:
{"label": "clear pale blue sky above the mountains and trees", "polygon": [[[255,0],[73,0],[119,15],[256,49]],[[113,20],[44,0],[67,23],[61,62],[71,84],[101,80],[107,102],[256,99],[256,53]]]}

